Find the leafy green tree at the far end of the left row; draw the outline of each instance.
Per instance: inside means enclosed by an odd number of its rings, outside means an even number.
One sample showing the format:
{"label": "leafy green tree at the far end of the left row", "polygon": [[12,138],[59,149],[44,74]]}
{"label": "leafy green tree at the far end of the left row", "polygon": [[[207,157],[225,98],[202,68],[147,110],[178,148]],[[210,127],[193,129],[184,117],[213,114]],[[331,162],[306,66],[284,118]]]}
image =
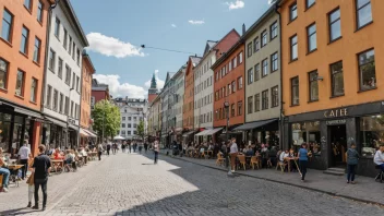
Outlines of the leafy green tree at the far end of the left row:
{"label": "leafy green tree at the far end of the left row", "polygon": [[119,133],[121,124],[120,110],[108,100],[98,101],[92,111],[92,117],[94,119],[93,128],[100,137],[103,136],[103,131],[104,137],[113,137]]}

